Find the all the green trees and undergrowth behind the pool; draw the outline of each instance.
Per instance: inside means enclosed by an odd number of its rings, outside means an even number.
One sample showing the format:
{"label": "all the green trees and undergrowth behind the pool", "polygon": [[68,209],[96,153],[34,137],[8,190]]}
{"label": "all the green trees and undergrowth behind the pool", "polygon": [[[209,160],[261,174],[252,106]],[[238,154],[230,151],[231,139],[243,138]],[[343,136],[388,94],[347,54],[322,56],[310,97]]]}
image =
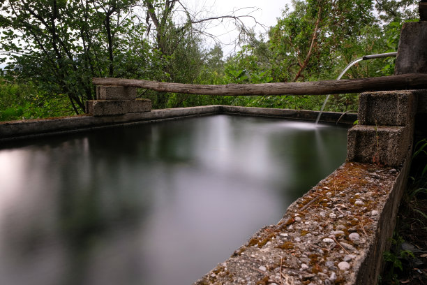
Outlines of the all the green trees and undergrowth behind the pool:
{"label": "all the green trees and undergrowth behind the pool", "polygon": [[[6,0],[0,3],[0,53],[8,59],[1,119],[80,114],[94,97],[93,77],[216,85],[334,79],[364,54],[396,51],[402,23],[416,17],[414,3],[294,0],[275,27],[257,35],[241,22],[250,15],[203,18],[178,0]],[[206,48],[203,41],[211,36],[204,24],[222,20],[234,21],[241,31],[239,52],[227,59],[219,44]],[[345,76],[393,71],[393,58],[375,59],[361,61]],[[10,93],[16,88],[22,90]],[[140,92],[153,108],[220,103],[319,110],[324,101]],[[326,110],[355,111],[357,95],[331,96]]]}

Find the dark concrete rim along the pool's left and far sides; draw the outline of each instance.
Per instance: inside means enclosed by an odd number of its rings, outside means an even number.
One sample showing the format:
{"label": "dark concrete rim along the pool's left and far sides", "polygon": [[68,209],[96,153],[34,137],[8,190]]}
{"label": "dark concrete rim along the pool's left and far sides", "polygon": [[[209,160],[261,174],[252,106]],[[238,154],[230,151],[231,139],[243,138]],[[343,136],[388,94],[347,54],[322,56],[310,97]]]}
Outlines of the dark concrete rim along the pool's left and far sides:
{"label": "dark concrete rim along the pool's left and far sides", "polygon": [[[52,136],[61,133],[73,133],[92,129],[108,128],[126,124],[140,124],[165,119],[179,119],[183,117],[195,117],[215,114],[253,115],[263,117],[282,117],[288,119],[305,119],[314,121],[318,112],[307,110],[286,110],[272,108],[246,108],[225,105],[208,105],[190,108],[173,108],[152,110],[151,112],[135,112],[125,115],[89,116],[80,115],[73,117],[61,117],[52,119],[31,119],[23,121],[0,122],[0,142],[8,140],[20,140],[40,136]],[[327,122],[338,121],[341,113],[325,113],[325,117],[333,117]],[[322,115],[323,116],[323,115]],[[347,118],[347,119],[345,119]],[[349,124],[349,119],[356,119],[355,114],[345,114],[340,124]],[[325,122],[323,119],[321,122]]]}

